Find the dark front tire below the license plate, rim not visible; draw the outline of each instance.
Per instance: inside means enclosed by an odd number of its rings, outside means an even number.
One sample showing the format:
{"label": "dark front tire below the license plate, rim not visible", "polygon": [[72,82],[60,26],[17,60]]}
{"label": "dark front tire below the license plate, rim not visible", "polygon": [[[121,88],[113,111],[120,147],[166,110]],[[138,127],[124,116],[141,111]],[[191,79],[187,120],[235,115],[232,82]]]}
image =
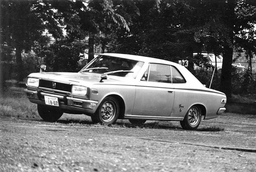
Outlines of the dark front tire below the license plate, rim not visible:
{"label": "dark front tire below the license plate, rim not visible", "polygon": [[39,105],[39,104],[37,105],[37,111],[39,116],[41,116],[41,118],[44,121],[48,121],[48,122],[57,121],[63,114],[63,112],[58,108],[51,108],[51,107]]}

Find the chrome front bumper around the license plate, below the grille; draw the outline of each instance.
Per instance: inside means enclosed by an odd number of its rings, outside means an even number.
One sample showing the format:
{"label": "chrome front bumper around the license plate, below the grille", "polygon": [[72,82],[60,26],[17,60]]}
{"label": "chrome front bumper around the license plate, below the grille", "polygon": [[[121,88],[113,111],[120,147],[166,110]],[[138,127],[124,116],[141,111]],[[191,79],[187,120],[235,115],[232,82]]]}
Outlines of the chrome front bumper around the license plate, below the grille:
{"label": "chrome front bumper around the license plate, below the grille", "polygon": [[[80,99],[80,98],[74,98],[67,95],[59,95],[54,93],[46,93],[41,91],[34,91],[25,89],[25,93],[27,94],[27,97],[30,102],[45,105],[44,96],[52,96],[57,97],[59,101],[59,107],[64,110],[67,110],[68,112],[72,113],[85,113],[85,114],[94,114],[96,111],[96,106],[98,104],[98,101],[92,101],[87,99]],[[47,105],[49,106],[49,105]]]}

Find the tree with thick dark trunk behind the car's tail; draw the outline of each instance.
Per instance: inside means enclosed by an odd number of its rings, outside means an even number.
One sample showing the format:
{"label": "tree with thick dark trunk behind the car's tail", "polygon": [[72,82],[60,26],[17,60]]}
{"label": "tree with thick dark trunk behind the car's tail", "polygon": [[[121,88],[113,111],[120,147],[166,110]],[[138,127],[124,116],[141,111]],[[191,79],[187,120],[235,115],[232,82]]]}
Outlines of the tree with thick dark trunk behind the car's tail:
{"label": "tree with thick dark trunk behind the car's tail", "polygon": [[233,51],[256,52],[255,32],[252,32],[255,31],[256,2],[202,0],[200,3],[210,15],[204,16],[204,26],[196,33],[196,37],[204,42],[207,49],[223,54],[221,91],[230,98]]}

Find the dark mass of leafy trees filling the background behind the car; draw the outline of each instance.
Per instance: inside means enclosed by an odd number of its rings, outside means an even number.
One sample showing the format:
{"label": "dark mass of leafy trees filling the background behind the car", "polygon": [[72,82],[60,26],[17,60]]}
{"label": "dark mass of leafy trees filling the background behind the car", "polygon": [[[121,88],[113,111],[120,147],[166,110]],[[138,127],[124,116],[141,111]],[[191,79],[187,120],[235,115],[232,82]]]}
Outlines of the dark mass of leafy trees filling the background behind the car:
{"label": "dark mass of leafy trees filling the background behind the car", "polygon": [[[236,59],[234,50],[238,51],[237,57],[246,51],[251,69],[248,72],[252,75],[251,64],[256,53],[255,9],[254,0],[3,0],[1,49],[4,61],[10,61],[10,52],[16,50],[19,71],[24,71],[21,57],[24,49],[26,53],[33,49],[52,71],[76,71],[83,49],[89,48],[91,60],[95,45],[100,45],[102,52],[173,62],[188,60],[188,69],[204,82],[208,74],[205,78],[201,76],[194,71],[194,64],[210,71],[212,66],[206,65],[203,56],[193,53],[221,54],[223,67],[218,71],[221,76],[216,78],[221,82],[216,82],[219,84],[216,89],[230,97],[231,88],[234,92],[240,89],[233,86],[236,79],[231,79],[236,77],[231,65]],[[45,29],[56,40],[50,42],[52,45],[42,36]],[[89,42],[83,45],[77,40]],[[251,85],[253,80],[244,81],[243,87],[246,83]]]}

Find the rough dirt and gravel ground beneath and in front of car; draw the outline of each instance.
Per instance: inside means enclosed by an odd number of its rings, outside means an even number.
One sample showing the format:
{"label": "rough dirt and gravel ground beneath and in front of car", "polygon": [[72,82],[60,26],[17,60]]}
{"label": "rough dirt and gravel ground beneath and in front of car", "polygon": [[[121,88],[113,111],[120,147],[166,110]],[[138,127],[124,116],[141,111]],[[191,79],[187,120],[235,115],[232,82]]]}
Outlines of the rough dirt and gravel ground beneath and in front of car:
{"label": "rough dirt and gravel ground beneath and in front of car", "polygon": [[69,117],[1,116],[0,171],[256,171],[256,116],[224,114],[196,131],[179,122],[104,126]]}

